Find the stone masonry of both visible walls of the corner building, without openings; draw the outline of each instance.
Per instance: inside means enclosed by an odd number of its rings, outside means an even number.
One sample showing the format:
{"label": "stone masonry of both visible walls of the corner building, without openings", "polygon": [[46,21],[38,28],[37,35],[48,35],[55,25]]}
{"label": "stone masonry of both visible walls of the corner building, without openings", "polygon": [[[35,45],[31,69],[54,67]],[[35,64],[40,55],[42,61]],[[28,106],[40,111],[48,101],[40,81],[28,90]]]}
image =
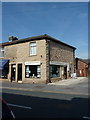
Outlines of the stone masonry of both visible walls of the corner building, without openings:
{"label": "stone masonry of both visible walls of the corner building, without openings", "polygon": [[[46,36],[45,36],[46,37]],[[36,55],[30,56],[30,43],[36,42]],[[63,79],[61,71],[64,69],[63,64],[72,67],[74,71],[75,49],[66,44],[62,44],[48,37],[42,39],[34,39],[27,42],[4,45],[4,59],[9,59],[9,81],[11,79],[11,65],[16,64],[15,81],[17,82],[18,64],[22,64],[22,82],[28,83],[48,83]],[[41,77],[25,78],[25,62],[40,61]],[[60,77],[50,78],[50,62],[60,62]]]}

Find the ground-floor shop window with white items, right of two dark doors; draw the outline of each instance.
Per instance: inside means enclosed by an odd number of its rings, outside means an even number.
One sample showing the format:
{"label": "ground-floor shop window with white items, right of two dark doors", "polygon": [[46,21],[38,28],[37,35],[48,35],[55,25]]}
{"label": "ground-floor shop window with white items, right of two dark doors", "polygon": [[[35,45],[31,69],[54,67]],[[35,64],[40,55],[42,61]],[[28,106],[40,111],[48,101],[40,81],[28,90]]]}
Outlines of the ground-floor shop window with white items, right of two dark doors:
{"label": "ground-floor shop window with white items, right of two dark doors", "polygon": [[39,65],[26,65],[25,77],[26,78],[40,78],[41,71]]}

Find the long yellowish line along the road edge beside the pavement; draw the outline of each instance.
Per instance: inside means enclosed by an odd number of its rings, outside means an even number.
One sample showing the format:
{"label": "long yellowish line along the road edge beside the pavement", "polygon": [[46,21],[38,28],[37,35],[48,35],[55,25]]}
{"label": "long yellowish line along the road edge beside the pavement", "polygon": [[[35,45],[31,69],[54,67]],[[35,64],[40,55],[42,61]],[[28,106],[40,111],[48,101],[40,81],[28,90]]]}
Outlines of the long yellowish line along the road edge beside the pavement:
{"label": "long yellowish line along the road edge beside the pavement", "polygon": [[[60,92],[60,91],[49,91],[49,90],[38,90],[38,89],[26,89],[26,88],[10,88],[10,87],[0,87],[0,88],[4,88],[4,89],[10,89],[10,90],[20,90],[20,91],[32,91],[32,92],[48,92],[48,93],[60,93],[60,94],[75,94],[75,95],[90,95],[90,94],[86,94],[86,93],[76,93],[76,92]],[[3,92],[3,91],[2,91]]]}

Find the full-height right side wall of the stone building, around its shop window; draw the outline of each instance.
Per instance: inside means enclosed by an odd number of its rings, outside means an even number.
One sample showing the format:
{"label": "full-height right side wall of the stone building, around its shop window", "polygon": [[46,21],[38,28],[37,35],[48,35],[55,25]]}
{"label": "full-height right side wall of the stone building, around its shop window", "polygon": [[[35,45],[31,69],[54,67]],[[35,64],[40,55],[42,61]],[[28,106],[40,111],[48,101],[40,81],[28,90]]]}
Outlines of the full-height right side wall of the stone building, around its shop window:
{"label": "full-height right side wall of the stone building, around its shop window", "polygon": [[[51,62],[55,61],[56,63],[62,62],[68,64],[69,66],[71,66],[73,73],[74,65],[75,65],[75,51],[73,48],[66,46],[62,43],[50,41],[50,61]],[[61,65],[60,68],[62,68],[63,70],[64,65]],[[69,77],[70,77],[70,70],[68,70],[68,66],[67,66],[67,78]],[[60,79],[64,79],[61,73],[60,73],[60,78],[57,78],[56,80],[60,80]],[[54,78],[51,78],[51,81],[54,81]]]}

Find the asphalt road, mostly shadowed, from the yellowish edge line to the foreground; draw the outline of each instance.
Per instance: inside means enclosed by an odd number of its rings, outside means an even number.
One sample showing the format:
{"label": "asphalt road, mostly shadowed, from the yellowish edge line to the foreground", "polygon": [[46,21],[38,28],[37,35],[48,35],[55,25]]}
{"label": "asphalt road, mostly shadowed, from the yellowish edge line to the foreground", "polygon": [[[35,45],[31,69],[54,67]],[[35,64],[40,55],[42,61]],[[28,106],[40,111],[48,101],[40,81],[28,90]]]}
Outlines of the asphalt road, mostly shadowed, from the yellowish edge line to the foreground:
{"label": "asphalt road, mostly shadowed, from the yellowish edge line to the foreground", "polygon": [[[10,93],[10,89],[7,89],[7,92],[5,91],[3,89],[2,97],[12,108],[16,118],[67,119],[88,116],[89,99],[87,95],[44,93],[38,91],[27,92],[23,90],[16,90],[17,92],[12,90],[12,94]],[[47,97],[37,97],[41,94],[46,94]]]}

